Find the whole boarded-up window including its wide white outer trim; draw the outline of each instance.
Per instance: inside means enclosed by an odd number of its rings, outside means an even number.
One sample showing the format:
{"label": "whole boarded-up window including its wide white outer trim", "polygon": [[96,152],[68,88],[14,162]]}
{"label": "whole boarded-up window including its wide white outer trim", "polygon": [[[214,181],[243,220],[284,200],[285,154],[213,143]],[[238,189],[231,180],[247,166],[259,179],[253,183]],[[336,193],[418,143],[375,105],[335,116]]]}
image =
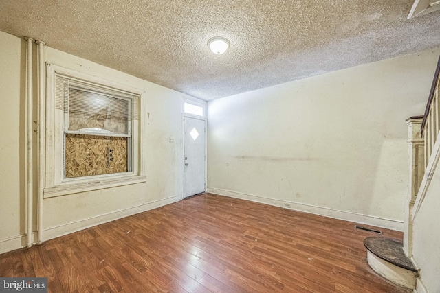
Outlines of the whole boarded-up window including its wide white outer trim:
{"label": "whole boarded-up window including its wide white outer trim", "polygon": [[56,65],[48,69],[48,100],[54,102],[46,109],[45,197],[144,182],[144,93]]}

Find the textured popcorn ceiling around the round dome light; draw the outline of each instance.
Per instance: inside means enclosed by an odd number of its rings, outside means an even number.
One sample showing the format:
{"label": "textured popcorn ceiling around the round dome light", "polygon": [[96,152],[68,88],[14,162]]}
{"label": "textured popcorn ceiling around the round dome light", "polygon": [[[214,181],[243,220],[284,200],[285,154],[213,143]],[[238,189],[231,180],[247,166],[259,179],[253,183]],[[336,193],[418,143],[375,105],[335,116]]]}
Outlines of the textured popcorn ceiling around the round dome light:
{"label": "textured popcorn ceiling around the round dome light", "polygon": [[412,2],[1,0],[0,30],[210,100],[440,47],[440,11]]}

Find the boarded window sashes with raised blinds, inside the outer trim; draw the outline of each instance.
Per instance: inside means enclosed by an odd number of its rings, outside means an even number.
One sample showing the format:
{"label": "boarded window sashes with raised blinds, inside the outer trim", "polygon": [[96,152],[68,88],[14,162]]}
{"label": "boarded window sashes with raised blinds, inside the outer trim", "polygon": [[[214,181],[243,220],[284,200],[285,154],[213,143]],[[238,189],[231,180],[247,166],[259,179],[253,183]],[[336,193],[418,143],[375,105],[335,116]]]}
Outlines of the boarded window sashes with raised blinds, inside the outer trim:
{"label": "boarded window sashes with raised blinds, inside the outer trim", "polygon": [[131,124],[138,97],[63,76],[63,178],[131,172]]}

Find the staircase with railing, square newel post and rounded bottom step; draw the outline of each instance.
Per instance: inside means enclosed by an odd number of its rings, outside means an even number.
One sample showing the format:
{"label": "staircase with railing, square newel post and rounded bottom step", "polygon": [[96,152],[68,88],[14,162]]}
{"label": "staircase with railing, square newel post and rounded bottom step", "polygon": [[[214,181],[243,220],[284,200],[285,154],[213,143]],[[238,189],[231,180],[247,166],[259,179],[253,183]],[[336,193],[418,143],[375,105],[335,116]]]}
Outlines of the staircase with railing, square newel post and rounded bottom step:
{"label": "staircase with railing, square newel post and rounded bottom step", "polygon": [[[405,202],[404,241],[384,237],[364,239],[367,261],[377,274],[397,285],[410,288],[414,292],[440,292],[440,281],[437,275],[430,274],[433,269],[438,268],[440,259],[438,250],[424,245],[423,241],[430,240],[420,238],[421,231],[424,231],[423,224],[430,226],[429,215],[434,217],[433,219],[437,218],[437,209],[428,209],[428,213],[425,211],[425,218],[419,220],[420,222],[415,222],[440,162],[440,58],[424,115],[410,117],[406,123],[408,124],[409,188]],[[431,192],[431,199],[432,194],[437,195]],[[437,202],[434,202],[432,207],[437,207]],[[419,233],[417,239],[414,238],[415,224],[417,224]],[[416,246],[413,244],[417,244],[418,259],[415,258]],[[428,250],[421,248],[428,248]],[[421,255],[423,257],[420,257]],[[418,266],[420,261],[423,261],[421,263],[423,266],[419,267],[421,269],[416,268],[410,258],[417,261]],[[429,285],[424,285],[426,283]]]}

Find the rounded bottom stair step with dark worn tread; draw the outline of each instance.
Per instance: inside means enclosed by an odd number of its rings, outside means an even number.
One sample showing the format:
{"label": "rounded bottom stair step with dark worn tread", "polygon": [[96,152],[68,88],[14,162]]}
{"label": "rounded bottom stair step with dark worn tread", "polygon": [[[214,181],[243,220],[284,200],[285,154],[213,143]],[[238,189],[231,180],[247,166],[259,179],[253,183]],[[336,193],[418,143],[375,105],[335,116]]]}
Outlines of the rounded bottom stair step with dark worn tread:
{"label": "rounded bottom stair step with dark worn tread", "polygon": [[405,255],[403,242],[384,237],[367,237],[364,246],[368,250],[368,263],[377,274],[406,288],[415,288],[418,270]]}

